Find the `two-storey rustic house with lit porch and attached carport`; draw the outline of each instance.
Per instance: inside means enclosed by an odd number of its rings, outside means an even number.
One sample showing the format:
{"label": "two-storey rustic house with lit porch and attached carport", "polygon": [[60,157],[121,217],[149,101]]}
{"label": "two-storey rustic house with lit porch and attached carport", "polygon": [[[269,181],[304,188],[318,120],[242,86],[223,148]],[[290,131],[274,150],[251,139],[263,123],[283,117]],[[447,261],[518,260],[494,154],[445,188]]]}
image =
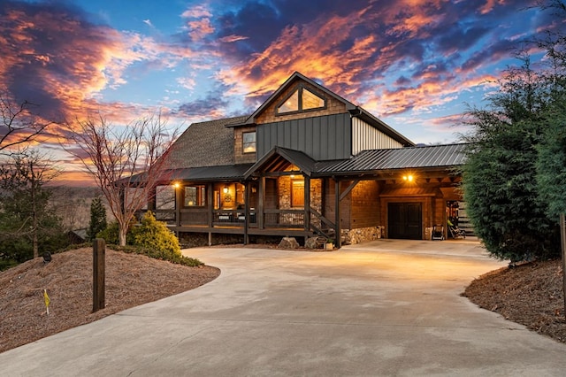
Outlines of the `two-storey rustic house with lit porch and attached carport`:
{"label": "two-storey rustic house with lit porch and attached carport", "polygon": [[171,178],[149,208],[181,241],[430,240],[434,225],[458,217],[463,147],[418,147],[294,73],[251,115],[188,127],[168,153]]}

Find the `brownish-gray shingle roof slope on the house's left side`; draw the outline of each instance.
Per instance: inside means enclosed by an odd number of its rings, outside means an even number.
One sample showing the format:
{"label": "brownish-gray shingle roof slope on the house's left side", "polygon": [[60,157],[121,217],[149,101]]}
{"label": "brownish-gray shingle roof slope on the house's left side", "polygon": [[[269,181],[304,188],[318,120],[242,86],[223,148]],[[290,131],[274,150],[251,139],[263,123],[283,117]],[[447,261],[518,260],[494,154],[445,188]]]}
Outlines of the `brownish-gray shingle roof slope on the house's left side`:
{"label": "brownish-gray shingle roof slope on the house's left side", "polygon": [[193,123],[172,145],[172,168],[233,165],[233,128],[248,116]]}

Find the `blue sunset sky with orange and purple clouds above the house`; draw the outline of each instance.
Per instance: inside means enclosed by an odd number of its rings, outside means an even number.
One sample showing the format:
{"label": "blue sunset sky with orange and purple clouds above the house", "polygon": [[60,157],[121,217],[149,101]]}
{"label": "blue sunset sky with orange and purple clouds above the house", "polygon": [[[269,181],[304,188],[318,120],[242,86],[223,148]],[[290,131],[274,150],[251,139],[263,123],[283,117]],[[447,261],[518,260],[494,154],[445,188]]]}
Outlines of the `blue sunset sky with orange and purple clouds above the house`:
{"label": "blue sunset sky with orange and purple clouds above the house", "polygon": [[50,119],[161,111],[186,127],[249,114],[298,71],[413,142],[455,142],[514,49],[565,27],[531,4],[2,0],[0,89]]}

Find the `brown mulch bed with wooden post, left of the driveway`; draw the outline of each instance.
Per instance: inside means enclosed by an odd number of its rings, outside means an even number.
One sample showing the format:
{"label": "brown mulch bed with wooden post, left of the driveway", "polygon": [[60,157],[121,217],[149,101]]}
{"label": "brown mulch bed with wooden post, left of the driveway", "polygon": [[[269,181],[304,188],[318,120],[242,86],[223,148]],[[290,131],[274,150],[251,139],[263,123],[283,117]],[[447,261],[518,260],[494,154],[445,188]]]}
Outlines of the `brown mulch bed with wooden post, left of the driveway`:
{"label": "brown mulch bed with wooden post, left of the driveway", "polygon": [[[106,250],[105,308],[93,313],[91,248],[29,260],[0,273],[0,352],[128,308],[195,289],[218,277],[211,266],[187,267]],[[43,289],[50,297],[47,315]]]}

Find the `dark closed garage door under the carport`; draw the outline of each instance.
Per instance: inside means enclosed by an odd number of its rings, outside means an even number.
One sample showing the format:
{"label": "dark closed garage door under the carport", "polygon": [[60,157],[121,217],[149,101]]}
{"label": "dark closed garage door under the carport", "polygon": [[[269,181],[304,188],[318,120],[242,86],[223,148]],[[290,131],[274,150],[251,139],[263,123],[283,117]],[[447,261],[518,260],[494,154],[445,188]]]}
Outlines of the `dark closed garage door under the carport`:
{"label": "dark closed garage door under the carport", "polygon": [[388,237],[403,240],[423,239],[423,207],[420,203],[387,204]]}

